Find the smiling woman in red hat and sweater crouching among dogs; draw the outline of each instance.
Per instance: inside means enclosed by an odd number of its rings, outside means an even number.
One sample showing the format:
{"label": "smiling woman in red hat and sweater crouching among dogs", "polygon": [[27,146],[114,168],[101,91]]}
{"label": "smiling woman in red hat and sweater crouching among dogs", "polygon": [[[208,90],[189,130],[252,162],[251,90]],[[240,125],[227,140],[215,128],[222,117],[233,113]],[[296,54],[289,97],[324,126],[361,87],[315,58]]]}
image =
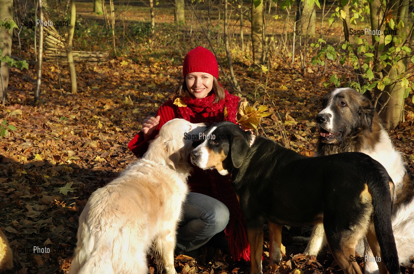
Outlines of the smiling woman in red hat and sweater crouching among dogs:
{"label": "smiling woman in red hat and sweater crouching among dogs", "polygon": [[[178,88],[178,95],[165,102],[156,117],[147,117],[141,131],[128,144],[135,156],[141,157],[161,126],[173,118],[210,125],[224,120],[236,123],[239,98],[224,90],[217,81],[218,76],[217,60],[212,52],[204,47],[188,52],[183,63],[184,81]],[[176,251],[189,254],[224,230],[233,258],[250,260],[244,219],[230,176],[194,166],[188,185],[191,192],[183,204],[183,222],[178,229]]]}

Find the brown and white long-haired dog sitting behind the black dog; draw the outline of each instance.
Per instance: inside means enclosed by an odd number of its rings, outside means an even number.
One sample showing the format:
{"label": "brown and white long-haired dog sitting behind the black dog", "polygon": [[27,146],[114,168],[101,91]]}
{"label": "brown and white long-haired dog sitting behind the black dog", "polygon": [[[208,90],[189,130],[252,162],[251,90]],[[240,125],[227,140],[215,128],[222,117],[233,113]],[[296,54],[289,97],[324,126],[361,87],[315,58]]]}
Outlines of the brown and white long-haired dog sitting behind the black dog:
{"label": "brown and white long-haired dog sitting behind the black dog", "polygon": [[[325,95],[323,109],[316,116],[320,137],[316,155],[359,151],[380,162],[395,184],[392,229],[400,262],[414,256],[414,183],[401,154],[395,150],[388,133],[380,123],[371,101],[350,88],[337,88]],[[315,226],[306,254],[317,255],[325,245],[325,232]],[[364,250],[365,249],[365,250]],[[378,273],[369,247],[359,244],[364,255],[365,272]]]}

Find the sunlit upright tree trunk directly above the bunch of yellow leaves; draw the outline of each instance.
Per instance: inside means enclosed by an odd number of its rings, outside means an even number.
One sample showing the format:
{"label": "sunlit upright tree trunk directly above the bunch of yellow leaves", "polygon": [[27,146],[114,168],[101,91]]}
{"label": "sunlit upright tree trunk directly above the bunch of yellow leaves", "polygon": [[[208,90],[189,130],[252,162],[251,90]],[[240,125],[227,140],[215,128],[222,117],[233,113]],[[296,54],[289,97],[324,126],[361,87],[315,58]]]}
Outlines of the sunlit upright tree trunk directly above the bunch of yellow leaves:
{"label": "sunlit upright tree trunk directly above the bunch of yellow leaves", "polygon": [[263,64],[265,61],[265,43],[263,38],[263,1],[255,7],[255,1],[252,0],[252,47],[253,61],[256,64]]}

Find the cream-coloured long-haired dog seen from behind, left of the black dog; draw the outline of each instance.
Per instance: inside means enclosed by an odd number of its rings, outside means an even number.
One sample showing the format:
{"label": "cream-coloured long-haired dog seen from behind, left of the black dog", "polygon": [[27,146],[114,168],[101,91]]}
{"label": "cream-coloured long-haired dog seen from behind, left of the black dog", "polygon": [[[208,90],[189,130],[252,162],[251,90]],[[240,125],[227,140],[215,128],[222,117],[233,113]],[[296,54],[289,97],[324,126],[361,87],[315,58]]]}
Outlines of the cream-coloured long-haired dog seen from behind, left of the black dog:
{"label": "cream-coloured long-haired dog seen from behind, left of the black dog", "polygon": [[174,248],[190,173],[188,135],[206,124],[168,121],[143,158],[96,190],[79,217],[71,274],[147,274],[152,247],[167,274],[176,274]]}

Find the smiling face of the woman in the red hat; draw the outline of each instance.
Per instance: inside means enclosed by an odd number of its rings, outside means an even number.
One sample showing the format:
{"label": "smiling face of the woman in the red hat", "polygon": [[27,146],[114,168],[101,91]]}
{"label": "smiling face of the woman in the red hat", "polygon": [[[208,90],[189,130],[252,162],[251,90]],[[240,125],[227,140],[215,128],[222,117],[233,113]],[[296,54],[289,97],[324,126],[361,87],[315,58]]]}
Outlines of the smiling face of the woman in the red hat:
{"label": "smiling face of the woman in the red hat", "polygon": [[207,97],[213,88],[213,80],[214,76],[205,72],[192,72],[185,76],[188,91],[198,99]]}

